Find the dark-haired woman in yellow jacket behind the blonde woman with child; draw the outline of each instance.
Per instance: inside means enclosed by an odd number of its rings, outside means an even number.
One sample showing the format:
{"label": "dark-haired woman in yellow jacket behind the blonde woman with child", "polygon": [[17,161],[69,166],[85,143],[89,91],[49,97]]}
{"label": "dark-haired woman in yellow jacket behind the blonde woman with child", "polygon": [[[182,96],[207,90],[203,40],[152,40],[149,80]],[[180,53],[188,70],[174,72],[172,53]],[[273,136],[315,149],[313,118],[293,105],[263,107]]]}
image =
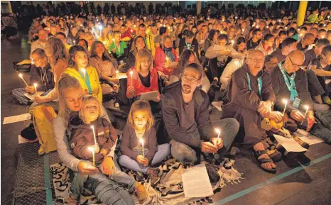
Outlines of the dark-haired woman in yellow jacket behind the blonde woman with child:
{"label": "dark-haired woman in yellow jacket behind the blonde woman with child", "polygon": [[89,66],[87,50],[80,45],[74,45],[69,50],[70,59],[64,73],[75,77],[86,94],[92,94],[102,103],[102,89],[97,70]]}

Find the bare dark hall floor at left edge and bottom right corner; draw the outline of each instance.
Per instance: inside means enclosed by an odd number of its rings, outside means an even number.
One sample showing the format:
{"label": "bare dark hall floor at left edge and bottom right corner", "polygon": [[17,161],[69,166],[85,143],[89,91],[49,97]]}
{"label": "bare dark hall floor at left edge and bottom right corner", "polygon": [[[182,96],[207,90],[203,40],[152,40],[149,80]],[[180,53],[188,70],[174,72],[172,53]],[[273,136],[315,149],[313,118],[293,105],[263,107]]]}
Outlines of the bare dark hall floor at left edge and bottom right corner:
{"label": "bare dark hall floor at left edge and bottom right corner", "polygon": [[[12,62],[28,59],[28,55],[26,40],[11,43],[1,40],[1,204],[12,204],[20,148],[17,136],[27,126],[23,122],[2,125],[4,117],[26,113],[26,107],[16,104],[11,96],[12,89],[24,86],[13,71]],[[28,79],[28,74],[23,75]],[[219,118],[219,113],[214,111],[212,118]],[[320,143],[312,145],[305,155],[314,164],[314,160],[330,153],[331,146]],[[258,167],[249,151],[244,154],[237,157],[234,167],[246,179],[241,184],[227,184],[212,196],[214,204],[330,204],[331,158],[304,170],[300,170],[298,162],[281,161],[276,164],[277,174],[268,174]],[[26,200],[26,204],[34,203]]]}

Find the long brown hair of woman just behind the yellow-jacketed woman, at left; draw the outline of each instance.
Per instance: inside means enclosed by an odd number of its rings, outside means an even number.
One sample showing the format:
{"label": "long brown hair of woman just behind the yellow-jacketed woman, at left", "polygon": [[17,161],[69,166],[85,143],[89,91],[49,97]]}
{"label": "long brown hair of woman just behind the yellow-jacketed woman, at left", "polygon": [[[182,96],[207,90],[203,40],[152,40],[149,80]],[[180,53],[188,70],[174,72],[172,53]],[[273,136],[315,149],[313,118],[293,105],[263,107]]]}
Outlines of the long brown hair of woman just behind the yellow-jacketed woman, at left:
{"label": "long brown hair of woman just behind the yellow-jacketed woman, at left", "polygon": [[59,38],[50,38],[47,41],[47,46],[50,50],[50,54],[53,57],[53,62],[56,64],[58,60],[68,60],[69,54],[67,53],[67,49],[65,49],[65,45],[63,45],[62,40]]}

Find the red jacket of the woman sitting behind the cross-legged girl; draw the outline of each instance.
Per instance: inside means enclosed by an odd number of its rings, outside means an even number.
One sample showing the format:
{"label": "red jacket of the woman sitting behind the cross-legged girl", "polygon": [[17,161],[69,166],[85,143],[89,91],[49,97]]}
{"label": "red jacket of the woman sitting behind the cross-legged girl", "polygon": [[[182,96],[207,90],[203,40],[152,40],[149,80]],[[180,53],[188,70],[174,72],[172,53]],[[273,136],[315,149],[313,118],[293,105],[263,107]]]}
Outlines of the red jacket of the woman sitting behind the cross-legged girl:
{"label": "red jacket of the woman sitting behind the cross-legged girl", "polygon": [[[130,72],[133,71],[132,79]],[[151,86],[150,87],[144,87],[141,83],[141,80],[139,78],[138,72],[136,71],[136,67],[132,67],[128,72],[126,72],[126,76],[128,77],[128,82],[126,84],[126,88],[129,88],[134,86],[134,89],[136,89],[136,95],[140,96],[142,93],[145,92],[153,92],[158,91],[158,72],[155,68],[151,70]],[[129,96],[128,89],[126,89],[126,96]]]}

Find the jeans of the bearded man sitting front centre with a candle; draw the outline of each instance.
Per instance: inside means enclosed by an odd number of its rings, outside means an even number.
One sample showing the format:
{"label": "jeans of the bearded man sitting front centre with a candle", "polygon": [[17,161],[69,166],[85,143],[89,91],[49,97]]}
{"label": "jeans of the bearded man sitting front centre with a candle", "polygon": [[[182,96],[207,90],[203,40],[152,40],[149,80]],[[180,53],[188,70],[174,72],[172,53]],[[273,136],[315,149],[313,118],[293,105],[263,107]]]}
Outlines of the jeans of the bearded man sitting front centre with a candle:
{"label": "jeans of the bearded man sitting front centre with a candle", "polygon": [[[212,122],[213,126],[218,127],[222,131],[220,136],[223,140],[223,148],[219,149],[215,158],[222,158],[231,147],[234,138],[239,131],[239,123],[234,118],[225,118],[223,120]],[[213,132],[213,131],[212,131]],[[183,163],[195,163],[202,160],[200,157],[201,150],[198,148],[191,148],[183,143],[178,143],[175,140],[170,141],[171,144],[171,155]]]}

